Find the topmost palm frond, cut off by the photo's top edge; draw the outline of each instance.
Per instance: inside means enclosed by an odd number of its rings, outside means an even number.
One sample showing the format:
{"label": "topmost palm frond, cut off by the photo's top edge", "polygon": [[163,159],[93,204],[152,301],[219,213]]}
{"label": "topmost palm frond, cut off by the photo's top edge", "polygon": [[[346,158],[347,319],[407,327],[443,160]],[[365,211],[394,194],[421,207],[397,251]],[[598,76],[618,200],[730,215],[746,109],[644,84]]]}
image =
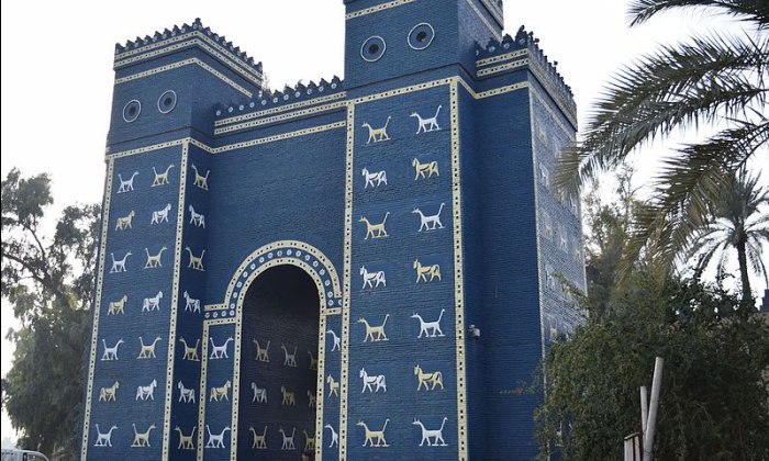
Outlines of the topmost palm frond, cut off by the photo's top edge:
{"label": "topmost palm frond, cut off by the photo's top edge", "polygon": [[766,0],[636,0],[631,3],[631,25],[642,24],[656,14],[682,8],[711,8],[740,20],[769,26],[769,2]]}

